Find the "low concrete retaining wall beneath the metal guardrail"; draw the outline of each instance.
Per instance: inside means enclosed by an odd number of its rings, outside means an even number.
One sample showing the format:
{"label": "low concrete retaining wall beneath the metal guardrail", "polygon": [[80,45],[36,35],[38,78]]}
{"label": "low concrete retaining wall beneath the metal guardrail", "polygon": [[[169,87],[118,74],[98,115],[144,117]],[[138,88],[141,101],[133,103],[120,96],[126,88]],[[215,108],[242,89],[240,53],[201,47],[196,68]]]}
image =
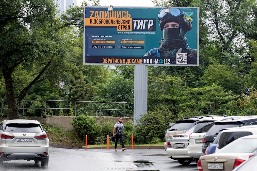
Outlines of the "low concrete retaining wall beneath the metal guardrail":
{"label": "low concrete retaining wall beneath the metal guardrail", "polygon": [[[46,125],[52,125],[52,126],[60,126],[61,128],[64,128],[65,130],[71,130],[73,129],[72,124],[70,122],[75,116],[47,116],[45,118],[43,117],[24,117],[24,119],[32,119],[32,120],[38,120],[40,123],[44,123]],[[93,117],[93,116],[91,116]],[[130,117],[122,117],[123,123],[127,123],[129,120],[131,120]],[[0,117],[1,120],[8,119],[8,117],[2,116]],[[119,117],[96,117],[96,121],[99,122],[103,119],[110,119],[110,121],[113,123],[113,126],[115,123],[119,121]]]}

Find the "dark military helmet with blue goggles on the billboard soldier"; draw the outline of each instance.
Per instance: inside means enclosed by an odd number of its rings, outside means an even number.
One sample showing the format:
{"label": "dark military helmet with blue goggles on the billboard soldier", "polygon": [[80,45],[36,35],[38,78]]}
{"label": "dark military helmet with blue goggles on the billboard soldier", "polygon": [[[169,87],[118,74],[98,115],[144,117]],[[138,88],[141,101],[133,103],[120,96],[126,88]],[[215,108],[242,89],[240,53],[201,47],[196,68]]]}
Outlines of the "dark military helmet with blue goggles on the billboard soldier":
{"label": "dark military helmet with blue goggles on the billboard soldier", "polygon": [[161,9],[158,14],[160,21],[160,29],[163,30],[164,25],[168,22],[176,22],[182,25],[182,29],[188,32],[192,29],[192,22],[186,22],[184,12],[179,8],[170,8],[169,13],[165,13],[165,8]]}

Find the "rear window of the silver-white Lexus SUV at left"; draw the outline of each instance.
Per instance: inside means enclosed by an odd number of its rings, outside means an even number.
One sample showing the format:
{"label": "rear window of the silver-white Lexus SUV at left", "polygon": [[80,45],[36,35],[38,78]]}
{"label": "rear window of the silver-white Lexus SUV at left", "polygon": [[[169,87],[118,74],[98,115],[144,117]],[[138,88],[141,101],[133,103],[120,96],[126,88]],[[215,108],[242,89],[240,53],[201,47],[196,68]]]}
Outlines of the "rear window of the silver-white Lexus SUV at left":
{"label": "rear window of the silver-white Lexus SUV at left", "polygon": [[31,123],[10,123],[4,132],[43,132],[40,125]]}

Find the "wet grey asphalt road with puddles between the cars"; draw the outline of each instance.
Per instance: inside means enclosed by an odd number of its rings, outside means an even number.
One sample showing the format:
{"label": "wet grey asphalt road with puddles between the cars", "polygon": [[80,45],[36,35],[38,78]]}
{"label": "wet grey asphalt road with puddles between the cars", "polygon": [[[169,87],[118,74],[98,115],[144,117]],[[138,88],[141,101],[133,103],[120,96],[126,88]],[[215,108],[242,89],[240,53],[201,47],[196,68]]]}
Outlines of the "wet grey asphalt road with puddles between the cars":
{"label": "wet grey asphalt road with puddles between the cars", "polygon": [[0,170],[8,171],[197,171],[196,162],[188,166],[165,156],[164,149],[126,149],[122,151],[50,148],[49,165],[34,161],[4,161]]}

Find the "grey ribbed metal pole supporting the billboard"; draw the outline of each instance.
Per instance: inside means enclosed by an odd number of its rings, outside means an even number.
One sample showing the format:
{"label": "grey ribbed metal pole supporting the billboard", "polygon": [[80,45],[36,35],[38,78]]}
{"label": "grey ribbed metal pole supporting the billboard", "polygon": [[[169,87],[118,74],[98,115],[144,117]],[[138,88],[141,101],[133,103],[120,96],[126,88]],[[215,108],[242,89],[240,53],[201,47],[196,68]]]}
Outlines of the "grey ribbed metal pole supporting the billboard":
{"label": "grey ribbed metal pole supporting the billboard", "polygon": [[134,125],[147,114],[147,65],[134,66]]}

